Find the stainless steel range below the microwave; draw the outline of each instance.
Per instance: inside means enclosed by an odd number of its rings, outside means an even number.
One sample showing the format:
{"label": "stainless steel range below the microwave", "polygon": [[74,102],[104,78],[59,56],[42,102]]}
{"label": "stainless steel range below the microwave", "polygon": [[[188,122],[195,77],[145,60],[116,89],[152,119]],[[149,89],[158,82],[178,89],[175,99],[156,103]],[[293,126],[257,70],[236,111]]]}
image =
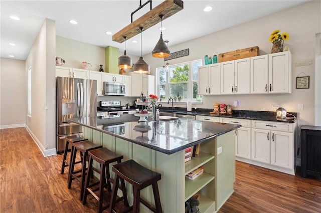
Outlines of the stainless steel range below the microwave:
{"label": "stainless steel range below the microwave", "polygon": [[97,117],[106,118],[109,115],[134,113],[135,110],[121,109],[120,101],[100,101]]}

